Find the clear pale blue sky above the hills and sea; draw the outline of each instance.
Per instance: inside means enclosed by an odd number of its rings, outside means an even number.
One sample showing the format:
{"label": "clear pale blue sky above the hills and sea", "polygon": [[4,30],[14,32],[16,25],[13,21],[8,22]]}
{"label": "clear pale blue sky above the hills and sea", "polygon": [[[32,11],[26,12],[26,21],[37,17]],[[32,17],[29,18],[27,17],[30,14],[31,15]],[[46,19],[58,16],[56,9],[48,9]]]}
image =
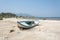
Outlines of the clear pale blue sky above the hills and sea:
{"label": "clear pale blue sky above the hills and sea", "polygon": [[60,0],[0,0],[0,13],[24,13],[36,17],[60,17]]}

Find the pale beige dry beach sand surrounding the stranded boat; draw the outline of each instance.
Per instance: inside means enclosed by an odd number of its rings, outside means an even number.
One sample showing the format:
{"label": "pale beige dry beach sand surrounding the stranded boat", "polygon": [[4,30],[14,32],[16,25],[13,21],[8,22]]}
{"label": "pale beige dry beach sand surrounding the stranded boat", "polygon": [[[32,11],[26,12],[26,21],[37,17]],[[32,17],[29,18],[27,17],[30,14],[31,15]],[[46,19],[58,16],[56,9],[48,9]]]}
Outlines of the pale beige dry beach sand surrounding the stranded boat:
{"label": "pale beige dry beach sand surrounding the stranded boat", "polygon": [[16,22],[0,20],[0,40],[60,40],[60,21],[40,20],[39,26],[20,30]]}

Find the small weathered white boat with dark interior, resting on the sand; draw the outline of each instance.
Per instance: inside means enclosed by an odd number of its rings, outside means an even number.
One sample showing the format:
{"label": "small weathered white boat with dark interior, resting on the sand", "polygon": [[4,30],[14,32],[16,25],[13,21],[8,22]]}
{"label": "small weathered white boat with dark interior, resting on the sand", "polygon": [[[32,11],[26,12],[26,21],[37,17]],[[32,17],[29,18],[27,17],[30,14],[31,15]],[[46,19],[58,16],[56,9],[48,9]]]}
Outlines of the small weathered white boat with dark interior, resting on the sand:
{"label": "small weathered white boat with dark interior, resting on the sand", "polygon": [[37,21],[18,21],[18,26],[21,28],[33,28],[39,24]]}

